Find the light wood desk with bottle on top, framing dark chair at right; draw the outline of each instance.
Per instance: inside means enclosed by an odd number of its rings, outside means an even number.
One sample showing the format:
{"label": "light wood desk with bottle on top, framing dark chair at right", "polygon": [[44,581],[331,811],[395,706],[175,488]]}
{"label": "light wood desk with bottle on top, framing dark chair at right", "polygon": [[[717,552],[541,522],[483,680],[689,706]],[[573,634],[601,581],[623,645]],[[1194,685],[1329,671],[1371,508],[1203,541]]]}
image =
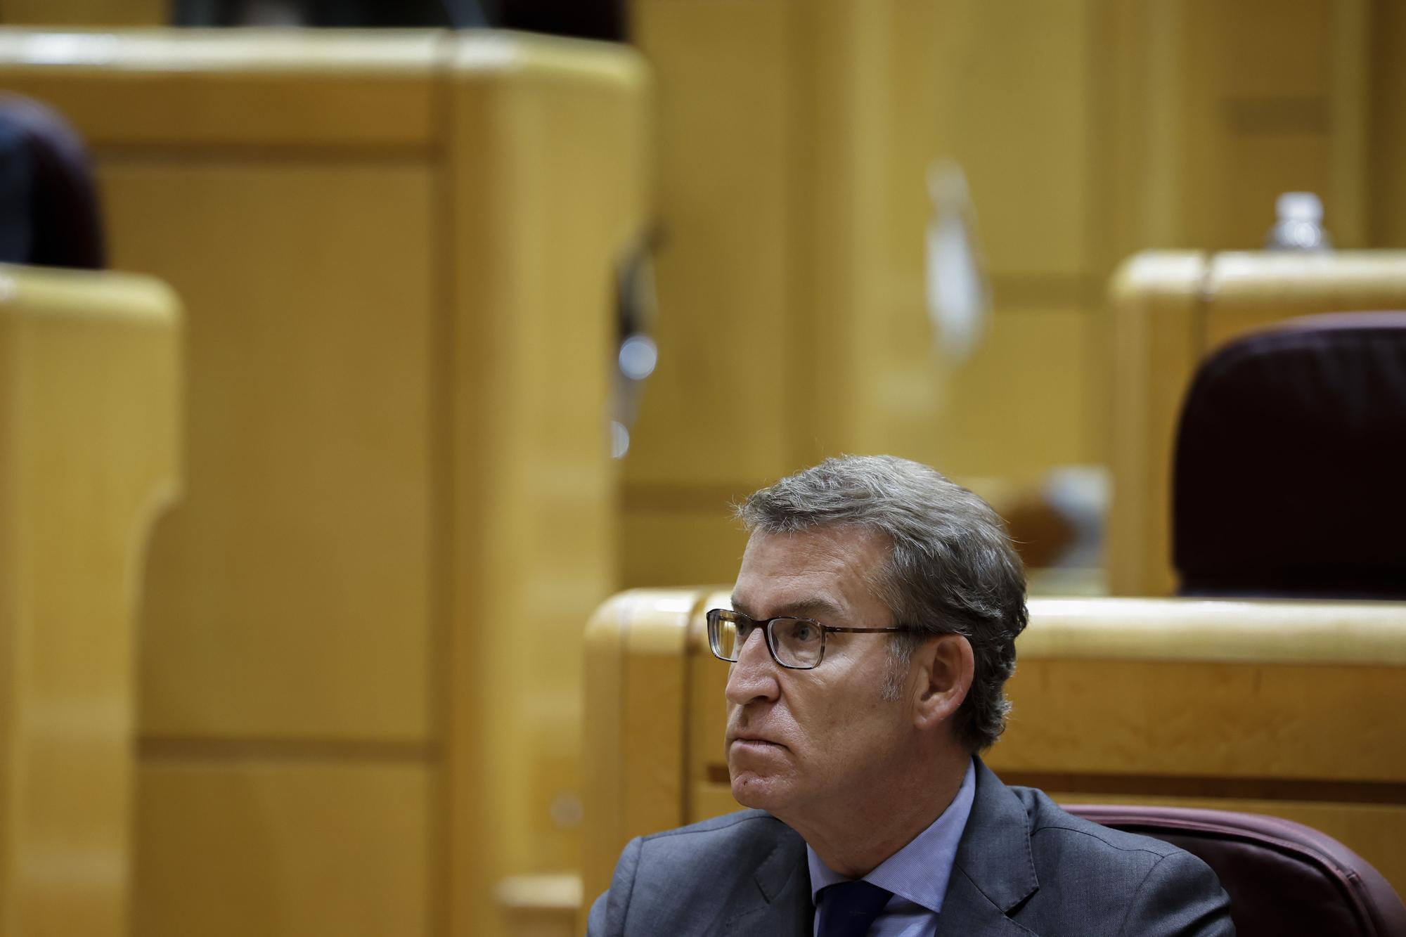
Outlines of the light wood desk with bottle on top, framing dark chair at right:
{"label": "light wood desk with bottle on top, framing dark chair at right", "polygon": [[1109,286],[1115,335],[1115,595],[1170,595],[1177,421],[1197,367],[1226,342],[1320,312],[1406,308],[1406,252],[1147,252]]}

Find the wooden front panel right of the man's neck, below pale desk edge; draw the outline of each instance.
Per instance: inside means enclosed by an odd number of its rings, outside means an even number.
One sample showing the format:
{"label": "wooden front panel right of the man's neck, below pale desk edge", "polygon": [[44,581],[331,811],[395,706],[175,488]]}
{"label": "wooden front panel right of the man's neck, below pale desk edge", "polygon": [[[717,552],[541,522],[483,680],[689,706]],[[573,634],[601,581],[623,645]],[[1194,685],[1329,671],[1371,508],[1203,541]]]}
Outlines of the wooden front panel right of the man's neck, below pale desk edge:
{"label": "wooden front panel right of the man's neck, below pale desk edge", "polygon": [[1395,705],[1400,680],[1399,665],[1024,660],[1010,729],[988,761],[998,771],[1395,781],[1406,778],[1406,739],[1372,713]]}

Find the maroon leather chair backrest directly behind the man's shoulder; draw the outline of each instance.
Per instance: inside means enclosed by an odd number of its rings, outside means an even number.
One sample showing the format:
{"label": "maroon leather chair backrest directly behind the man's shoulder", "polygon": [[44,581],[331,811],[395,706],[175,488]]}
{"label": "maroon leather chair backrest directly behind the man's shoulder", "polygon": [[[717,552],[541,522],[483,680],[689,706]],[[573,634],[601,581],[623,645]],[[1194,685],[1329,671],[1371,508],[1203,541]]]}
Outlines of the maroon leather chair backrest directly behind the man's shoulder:
{"label": "maroon leather chair backrest directly behind the man's shoulder", "polygon": [[1406,934],[1406,907],[1381,872],[1302,823],[1167,806],[1074,803],[1066,809],[1198,855],[1230,895],[1239,937]]}

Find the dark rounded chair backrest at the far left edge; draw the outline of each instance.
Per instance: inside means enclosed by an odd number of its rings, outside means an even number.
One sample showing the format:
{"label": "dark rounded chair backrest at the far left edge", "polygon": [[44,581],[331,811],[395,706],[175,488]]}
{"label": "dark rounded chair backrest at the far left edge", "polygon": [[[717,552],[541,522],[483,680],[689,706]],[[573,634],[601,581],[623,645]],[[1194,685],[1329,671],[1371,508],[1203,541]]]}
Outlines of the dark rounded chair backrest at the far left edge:
{"label": "dark rounded chair backrest at the far left edge", "polygon": [[38,101],[0,94],[0,260],[104,266],[97,187],[83,141]]}

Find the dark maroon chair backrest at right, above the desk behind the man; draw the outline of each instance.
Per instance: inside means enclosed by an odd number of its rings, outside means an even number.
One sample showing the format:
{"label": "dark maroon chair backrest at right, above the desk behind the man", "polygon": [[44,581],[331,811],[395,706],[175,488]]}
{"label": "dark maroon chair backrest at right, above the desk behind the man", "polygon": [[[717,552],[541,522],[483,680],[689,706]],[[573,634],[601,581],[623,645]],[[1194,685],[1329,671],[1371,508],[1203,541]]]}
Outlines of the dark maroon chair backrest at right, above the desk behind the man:
{"label": "dark maroon chair backrest at right, above the desk behind the man", "polygon": [[1406,598],[1406,312],[1316,315],[1202,363],[1177,438],[1185,595]]}

